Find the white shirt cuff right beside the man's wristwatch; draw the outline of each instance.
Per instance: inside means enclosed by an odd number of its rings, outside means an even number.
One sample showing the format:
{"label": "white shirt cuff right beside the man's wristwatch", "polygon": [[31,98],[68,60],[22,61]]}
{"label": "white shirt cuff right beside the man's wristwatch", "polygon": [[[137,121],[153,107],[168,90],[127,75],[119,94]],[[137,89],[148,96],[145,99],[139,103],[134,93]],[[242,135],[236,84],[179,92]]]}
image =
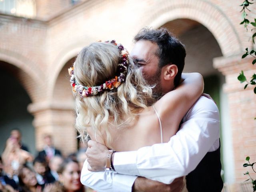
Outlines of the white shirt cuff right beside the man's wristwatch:
{"label": "white shirt cuff right beside the man's wristwatch", "polygon": [[120,174],[140,175],[137,169],[137,151],[115,152],[113,165]]}

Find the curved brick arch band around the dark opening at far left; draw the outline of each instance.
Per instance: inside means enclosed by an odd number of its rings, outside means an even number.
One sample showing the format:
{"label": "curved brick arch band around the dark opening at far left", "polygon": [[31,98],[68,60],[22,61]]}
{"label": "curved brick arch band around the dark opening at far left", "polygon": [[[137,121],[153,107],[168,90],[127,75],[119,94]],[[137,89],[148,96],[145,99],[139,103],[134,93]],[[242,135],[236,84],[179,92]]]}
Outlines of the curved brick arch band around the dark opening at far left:
{"label": "curved brick arch band around the dark opening at far left", "polygon": [[20,70],[18,78],[30,99],[34,102],[44,88],[43,75],[36,68],[36,65],[16,52],[6,52],[4,50],[0,50],[0,61],[15,66]]}

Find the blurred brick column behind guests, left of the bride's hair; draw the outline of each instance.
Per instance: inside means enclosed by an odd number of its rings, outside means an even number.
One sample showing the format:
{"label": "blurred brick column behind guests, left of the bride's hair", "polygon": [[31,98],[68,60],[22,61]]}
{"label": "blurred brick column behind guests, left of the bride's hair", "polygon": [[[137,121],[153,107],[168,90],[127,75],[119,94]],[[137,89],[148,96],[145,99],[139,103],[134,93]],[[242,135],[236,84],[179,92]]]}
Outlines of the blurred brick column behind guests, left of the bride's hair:
{"label": "blurred brick column behind guests, left of the bride's hair", "polygon": [[72,102],[37,102],[28,106],[34,115],[36,149],[44,146],[44,134],[51,134],[56,148],[66,156],[76,152],[74,104]]}

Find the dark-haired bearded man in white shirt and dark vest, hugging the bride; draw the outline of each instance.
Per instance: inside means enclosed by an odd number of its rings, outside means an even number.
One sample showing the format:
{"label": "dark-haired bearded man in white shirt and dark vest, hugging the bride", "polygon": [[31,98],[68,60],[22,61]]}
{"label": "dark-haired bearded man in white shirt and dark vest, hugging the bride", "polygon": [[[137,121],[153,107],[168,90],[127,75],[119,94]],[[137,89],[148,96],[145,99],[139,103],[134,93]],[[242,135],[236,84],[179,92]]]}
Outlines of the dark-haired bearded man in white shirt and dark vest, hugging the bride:
{"label": "dark-haired bearded man in white shirt and dark vest, hugging the bride", "polygon": [[[134,40],[131,56],[142,68],[148,83],[157,84],[155,93],[161,96],[172,91],[180,83],[186,56],[184,46],[164,28],[144,28]],[[163,66],[171,64],[177,66],[178,72],[163,70]],[[221,192],[219,126],[218,108],[212,100],[200,97],[168,143],[143,147],[138,151],[114,152],[111,164],[117,176],[107,174],[104,180],[92,176],[94,186],[100,191],[113,192],[176,192],[182,184],[175,178],[186,176],[189,192]],[[88,146],[88,169],[104,170],[108,148],[94,141],[89,141]],[[146,179],[152,176],[156,181]],[[165,184],[157,181],[158,178],[163,181],[165,176],[168,178],[164,180]],[[106,186],[108,190],[104,189]],[[109,186],[113,186],[112,190]]]}

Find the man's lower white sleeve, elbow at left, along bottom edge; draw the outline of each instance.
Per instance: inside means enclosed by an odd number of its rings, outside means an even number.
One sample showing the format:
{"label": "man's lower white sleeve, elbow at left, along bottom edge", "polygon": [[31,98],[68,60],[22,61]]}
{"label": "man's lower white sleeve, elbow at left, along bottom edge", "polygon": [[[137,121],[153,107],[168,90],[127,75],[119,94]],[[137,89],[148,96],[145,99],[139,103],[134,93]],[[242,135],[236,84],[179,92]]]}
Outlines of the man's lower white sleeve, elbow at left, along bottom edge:
{"label": "man's lower white sleeve, elbow at left, along bottom edge", "polygon": [[118,174],[114,171],[90,172],[85,160],[81,172],[81,183],[98,192],[131,192],[137,176]]}

